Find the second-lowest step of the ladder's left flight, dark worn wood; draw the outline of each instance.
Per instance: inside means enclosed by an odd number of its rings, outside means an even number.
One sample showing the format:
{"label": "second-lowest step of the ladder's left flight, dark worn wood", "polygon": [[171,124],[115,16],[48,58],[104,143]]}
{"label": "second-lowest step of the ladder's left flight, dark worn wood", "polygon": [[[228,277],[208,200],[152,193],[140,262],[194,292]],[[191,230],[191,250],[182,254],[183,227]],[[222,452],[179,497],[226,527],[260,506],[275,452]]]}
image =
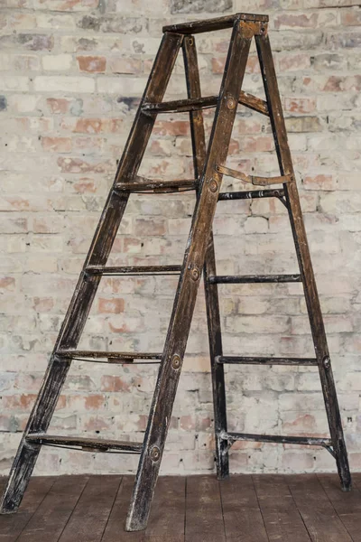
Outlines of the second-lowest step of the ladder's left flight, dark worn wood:
{"label": "second-lowest step of the ladder's left flight, dark worn wood", "polygon": [[94,350],[58,350],[56,355],[68,360],[96,361],[97,363],[134,363],[134,360],[150,360],[159,363],[161,353],[153,352],[106,352]]}

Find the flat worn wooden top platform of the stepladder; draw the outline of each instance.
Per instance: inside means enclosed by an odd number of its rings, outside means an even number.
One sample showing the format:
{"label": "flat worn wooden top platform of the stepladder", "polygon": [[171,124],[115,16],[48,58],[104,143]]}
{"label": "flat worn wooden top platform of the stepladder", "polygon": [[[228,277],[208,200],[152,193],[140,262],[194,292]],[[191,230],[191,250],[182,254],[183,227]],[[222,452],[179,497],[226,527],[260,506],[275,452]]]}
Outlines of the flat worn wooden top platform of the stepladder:
{"label": "flat worn wooden top platform of the stepladder", "polygon": [[223,30],[232,28],[235,21],[254,21],[258,23],[268,23],[268,15],[259,14],[234,14],[226,15],[225,17],[217,17],[216,19],[206,19],[204,21],[193,21],[191,23],[170,24],[163,26],[163,32],[173,33],[202,33],[213,32],[215,30]]}

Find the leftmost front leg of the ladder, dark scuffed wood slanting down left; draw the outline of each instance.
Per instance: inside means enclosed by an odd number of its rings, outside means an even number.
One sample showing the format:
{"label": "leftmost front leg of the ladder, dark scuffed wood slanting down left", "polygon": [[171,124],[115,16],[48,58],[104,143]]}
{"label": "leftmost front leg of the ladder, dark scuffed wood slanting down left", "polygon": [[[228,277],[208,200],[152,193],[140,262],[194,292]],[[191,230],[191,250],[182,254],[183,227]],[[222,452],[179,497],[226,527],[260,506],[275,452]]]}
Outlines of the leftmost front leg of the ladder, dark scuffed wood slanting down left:
{"label": "leftmost front leg of the ladder, dark scuffed wood slanting down left", "polygon": [[[177,33],[165,34],[153,70],[144,91],[141,104],[134,119],[134,125],[125,145],[125,150],[116,172],[116,182],[132,179],[141,164],[145,147],[152,133],[155,117],[142,114],[143,101],[160,101],[171,77],[171,70],[176,61],[183,36]],[[105,209],[99,220],[95,236],[88,252],[84,269],[88,265],[101,266],[106,263],[113,246],[116,232],[122,220],[127,194],[118,194],[111,190]],[[32,414],[23,434],[14,458],[14,463],[5,488],[1,504],[2,513],[16,511],[23,499],[23,493],[32,475],[42,445],[28,442],[27,435],[45,432],[51,422],[51,416],[60,396],[61,388],[68,374],[71,360],[60,359],[58,350],[77,347],[84,329],[92,301],[97,293],[101,276],[88,276],[81,272],[68,312],[60,329],[58,340],[51,355],[51,361],[42,382],[39,396],[32,408]]]}

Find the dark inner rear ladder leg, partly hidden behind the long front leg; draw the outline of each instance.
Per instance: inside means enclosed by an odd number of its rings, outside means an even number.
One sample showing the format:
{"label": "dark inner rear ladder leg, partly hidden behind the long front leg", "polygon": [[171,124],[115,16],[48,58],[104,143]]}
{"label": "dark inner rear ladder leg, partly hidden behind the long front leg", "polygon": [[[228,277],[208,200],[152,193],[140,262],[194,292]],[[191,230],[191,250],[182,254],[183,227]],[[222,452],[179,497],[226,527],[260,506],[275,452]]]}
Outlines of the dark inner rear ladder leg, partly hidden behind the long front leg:
{"label": "dark inner rear ladder leg, partly hidden behind the long front leg", "polygon": [[[193,36],[183,42],[183,56],[189,98],[200,98],[199,66],[196,44]],[[202,111],[190,111],[190,132],[193,148],[195,177],[203,170],[206,161],[206,138]],[[222,356],[222,336],[220,327],[218,285],[210,284],[208,276],[216,276],[216,257],[212,232],[208,238],[208,248],[203,267],[204,288],[206,295],[210,367],[212,373],[212,391],[216,438],[216,465],[218,479],[229,475],[228,441],[221,435],[227,433],[227,410],[224,366],[217,363],[217,356]]]}

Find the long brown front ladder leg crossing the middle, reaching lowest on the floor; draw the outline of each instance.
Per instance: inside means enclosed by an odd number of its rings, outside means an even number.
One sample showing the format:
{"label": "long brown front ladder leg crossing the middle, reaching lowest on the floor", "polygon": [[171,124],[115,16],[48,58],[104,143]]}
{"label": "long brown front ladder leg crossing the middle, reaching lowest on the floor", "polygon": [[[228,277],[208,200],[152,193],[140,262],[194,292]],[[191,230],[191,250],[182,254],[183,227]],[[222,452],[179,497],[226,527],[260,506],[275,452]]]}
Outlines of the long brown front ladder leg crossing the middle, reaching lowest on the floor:
{"label": "long brown front ladder leg crossing the middle, reaching lowest on the floor", "polygon": [[190,226],[183,268],[153,395],[143,453],[126,519],[126,530],[145,528],[150,512],[165,438],[171,422],[171,410],[180,378],[181,363],[190,332],[190,322],[196,303],[208,237],[218,201],[222,176],[216,173],[215,167],[216,164],[224,164],[227,158],[236,116],[237,97],[241,91],[245,64],[254,32],[255,30],[250,29],[248,23],[236,19],[209,139],[207,160],[200,180],[199,197]]}

